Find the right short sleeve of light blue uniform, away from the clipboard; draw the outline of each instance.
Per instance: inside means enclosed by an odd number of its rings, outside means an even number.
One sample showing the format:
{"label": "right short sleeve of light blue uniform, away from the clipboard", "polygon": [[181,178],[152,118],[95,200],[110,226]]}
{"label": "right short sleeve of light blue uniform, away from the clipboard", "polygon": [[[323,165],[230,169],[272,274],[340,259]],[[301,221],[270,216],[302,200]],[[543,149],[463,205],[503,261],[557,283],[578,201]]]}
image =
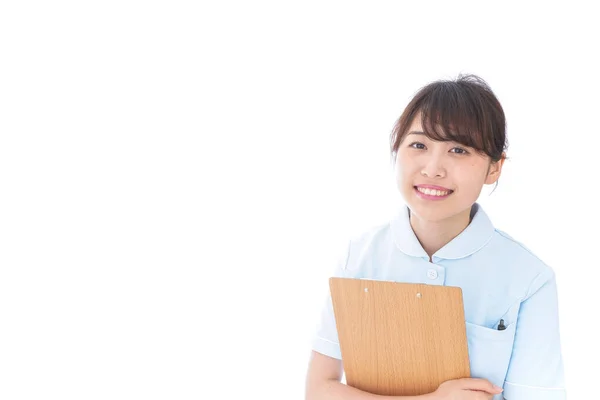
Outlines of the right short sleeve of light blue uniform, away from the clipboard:
{"label": "right short sleeve of light blue uniform, away from the clipboard", "polygon": [[507,400],[566,399],[556,277],[538,276],[520,306],[504,383]]}

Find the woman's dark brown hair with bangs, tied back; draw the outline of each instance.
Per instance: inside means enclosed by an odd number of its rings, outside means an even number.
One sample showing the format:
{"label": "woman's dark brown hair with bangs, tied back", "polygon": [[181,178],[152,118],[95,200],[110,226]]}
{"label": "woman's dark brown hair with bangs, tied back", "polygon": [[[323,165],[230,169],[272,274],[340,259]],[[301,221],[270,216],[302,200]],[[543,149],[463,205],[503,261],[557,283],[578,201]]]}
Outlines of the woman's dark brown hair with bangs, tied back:
{"label": "woman's dark brown hair with bangs, tied back", "polygon": [[460,74],[456,80],[435,81],[417,92],[392,129],[390,150],[394,160],[419,112],[423,132],[432,140],[472,147],[493,162],[502,159],[508,147],[502,106],[489,85],[476,75]]}

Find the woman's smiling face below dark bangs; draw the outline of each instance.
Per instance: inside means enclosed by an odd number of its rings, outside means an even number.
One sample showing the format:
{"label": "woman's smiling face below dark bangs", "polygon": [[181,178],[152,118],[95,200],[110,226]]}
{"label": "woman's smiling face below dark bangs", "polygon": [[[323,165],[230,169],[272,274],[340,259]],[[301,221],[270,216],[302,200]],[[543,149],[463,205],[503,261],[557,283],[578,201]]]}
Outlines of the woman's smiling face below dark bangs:
{"label": "woman's smiling face below dark bangs", "polygon": [[429,139],[417,115],[398,147],[396,180],[412,213],[439,222],[470,212],[483,185],[499,178],[502,163],[455,142]]}

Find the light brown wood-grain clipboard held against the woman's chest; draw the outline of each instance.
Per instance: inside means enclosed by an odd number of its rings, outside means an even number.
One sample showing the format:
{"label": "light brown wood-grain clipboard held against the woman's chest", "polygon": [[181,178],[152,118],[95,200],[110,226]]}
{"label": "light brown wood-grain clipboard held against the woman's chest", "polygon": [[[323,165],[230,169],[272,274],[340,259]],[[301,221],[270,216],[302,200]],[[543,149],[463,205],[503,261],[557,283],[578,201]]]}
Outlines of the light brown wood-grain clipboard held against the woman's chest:
{"label": "light brown wood-grain clipboard held against the woman's chest", "polygon": [[329,279],[346,383],[386,396],[470,377],[462,289]]}

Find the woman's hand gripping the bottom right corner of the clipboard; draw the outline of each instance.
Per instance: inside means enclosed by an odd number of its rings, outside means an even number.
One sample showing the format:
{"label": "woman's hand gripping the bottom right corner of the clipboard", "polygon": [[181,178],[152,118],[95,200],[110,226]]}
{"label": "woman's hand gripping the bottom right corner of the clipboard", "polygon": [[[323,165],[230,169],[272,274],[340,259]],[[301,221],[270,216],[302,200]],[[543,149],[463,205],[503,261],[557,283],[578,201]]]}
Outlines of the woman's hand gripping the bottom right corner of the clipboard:
{"label": "woman's hand gripping the bottom right corner of the clipboard", "polygon": [[463,378],[446,381],[433,392],[435,400],[491,400],[502,388],[487,379]]}

